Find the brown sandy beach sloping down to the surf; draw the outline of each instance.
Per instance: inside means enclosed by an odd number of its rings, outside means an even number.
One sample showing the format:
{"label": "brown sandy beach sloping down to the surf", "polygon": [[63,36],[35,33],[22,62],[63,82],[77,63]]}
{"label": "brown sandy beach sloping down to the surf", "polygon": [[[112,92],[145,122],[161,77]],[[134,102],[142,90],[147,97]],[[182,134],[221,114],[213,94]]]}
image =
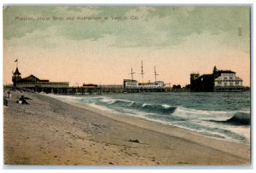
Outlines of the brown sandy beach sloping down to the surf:
{"label": "brown sandy beach sloping down to the surf", "polygon": [[[11,92],[3,107],[4,164],[249,165],[250,145]],[[15,103],[25,95],[28,105]],[[135,142],[137,140],[137,142]]]}

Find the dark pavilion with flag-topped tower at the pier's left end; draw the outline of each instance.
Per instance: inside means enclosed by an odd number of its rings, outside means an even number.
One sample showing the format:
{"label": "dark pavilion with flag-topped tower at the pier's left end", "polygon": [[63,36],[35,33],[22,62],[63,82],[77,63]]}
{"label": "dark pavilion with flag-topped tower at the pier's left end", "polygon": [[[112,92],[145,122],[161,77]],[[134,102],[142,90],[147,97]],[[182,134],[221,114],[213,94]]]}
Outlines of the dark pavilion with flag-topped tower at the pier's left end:
{"label": "dark pavilion with flag-topped tower at the pier's left end", "polygon": [[34,88],[68,88],[68,82],[49,82],[48,79],[39,79],[34,75],[21,78],[18,67],[13,73],[12,81],[15,87],[34,89]]}

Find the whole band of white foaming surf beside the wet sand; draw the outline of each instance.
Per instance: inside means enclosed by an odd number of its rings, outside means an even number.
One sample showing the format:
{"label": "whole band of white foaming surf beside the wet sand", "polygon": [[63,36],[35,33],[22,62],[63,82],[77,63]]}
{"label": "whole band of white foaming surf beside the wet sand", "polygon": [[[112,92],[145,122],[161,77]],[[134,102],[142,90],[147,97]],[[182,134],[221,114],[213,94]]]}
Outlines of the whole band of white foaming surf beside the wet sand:
{"label": "whole band of white foaming surf beside the wet sand", "polygon": [[[143,95],[145,96],[145,95]],[[147,95],[148,96],[148,95]],[[173,101],[154,101],[140,98],[112,98],[110,96],[55,96],[69,101],[79,101],[108,112],[122,113],[127,116],[146,118],[161,124],[195,130],[202,134],[221,136],[227,139],[247,142],[247,137],[236,133],[236,130],[249,128],[251,124],[250,109],[241,107],[240,110],[207,109],[204,107],[189,107],[183,103],[171,104]],[[160,99],[160,98],[158,98]],[[236,107],[239,109],[239,107]],[[230,130],[236,126],[236,130]]]}

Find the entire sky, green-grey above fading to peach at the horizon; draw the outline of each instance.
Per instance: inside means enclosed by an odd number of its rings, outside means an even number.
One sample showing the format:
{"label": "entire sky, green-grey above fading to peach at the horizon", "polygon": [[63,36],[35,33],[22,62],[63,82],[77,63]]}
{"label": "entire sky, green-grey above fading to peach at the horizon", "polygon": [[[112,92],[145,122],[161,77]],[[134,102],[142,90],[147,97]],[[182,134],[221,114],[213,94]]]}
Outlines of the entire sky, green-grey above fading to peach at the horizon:
{"label": "entire sky, green-grey above fading to peach at the horizon", "polygon": [[[3,84],[21,77],[189,84],[191,72],[231,70],[250,85],[248,6],[4,6]],[[143,61],[143,78],[141,73]]]}

